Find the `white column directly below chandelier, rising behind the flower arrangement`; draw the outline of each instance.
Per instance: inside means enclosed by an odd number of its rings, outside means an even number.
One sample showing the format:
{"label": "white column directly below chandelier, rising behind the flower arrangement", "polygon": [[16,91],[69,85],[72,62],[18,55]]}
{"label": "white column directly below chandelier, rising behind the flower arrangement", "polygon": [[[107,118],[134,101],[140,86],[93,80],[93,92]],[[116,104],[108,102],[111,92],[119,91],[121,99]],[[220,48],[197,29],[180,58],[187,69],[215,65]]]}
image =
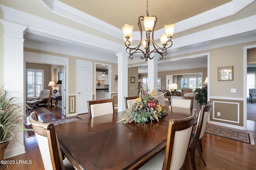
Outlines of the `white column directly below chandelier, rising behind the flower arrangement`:
{"label": "white column directly below chandelier, rising behind the flower arrangement", "polygon": [[155,90],[157,87],[158,55],[154,55],[152,60],[148,59],[148,88]]}

